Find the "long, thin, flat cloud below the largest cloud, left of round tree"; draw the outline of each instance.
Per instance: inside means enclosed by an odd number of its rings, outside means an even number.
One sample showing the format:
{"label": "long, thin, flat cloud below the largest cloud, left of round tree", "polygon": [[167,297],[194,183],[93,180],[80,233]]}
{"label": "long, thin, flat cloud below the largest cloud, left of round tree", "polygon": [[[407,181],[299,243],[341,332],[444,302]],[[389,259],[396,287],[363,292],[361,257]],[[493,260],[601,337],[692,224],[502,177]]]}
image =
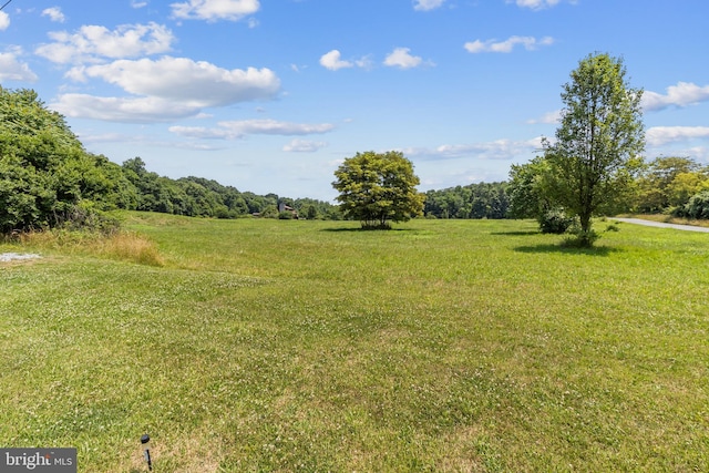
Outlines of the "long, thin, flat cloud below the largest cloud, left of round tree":
{"label": "long, thin, flat cloud below the largest cloud, left of round tree", "polygon": [[237,140],[246,135],[310,135],[327,133],[335,128],[329,123],[305,124],[275,120],[242,120],[219,122],[218,127],[171,126],[169,131],[193,138]]}

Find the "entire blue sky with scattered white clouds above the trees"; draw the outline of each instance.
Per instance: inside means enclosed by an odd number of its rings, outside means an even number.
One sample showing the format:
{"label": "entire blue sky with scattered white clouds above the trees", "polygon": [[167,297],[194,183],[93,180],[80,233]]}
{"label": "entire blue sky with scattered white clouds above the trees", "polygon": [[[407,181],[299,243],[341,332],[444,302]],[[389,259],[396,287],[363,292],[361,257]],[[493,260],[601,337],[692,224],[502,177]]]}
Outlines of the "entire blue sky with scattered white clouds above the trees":
{"label": "entire blue sky with scattered white clouds above the trees", "polygon": [[116,163],[331,200],[370,150],[402,151],[421,191],[506,179],[594,52],[645,90],[648,160],[707,164],[708,18],[702,0],[12,0],[0,84]]}

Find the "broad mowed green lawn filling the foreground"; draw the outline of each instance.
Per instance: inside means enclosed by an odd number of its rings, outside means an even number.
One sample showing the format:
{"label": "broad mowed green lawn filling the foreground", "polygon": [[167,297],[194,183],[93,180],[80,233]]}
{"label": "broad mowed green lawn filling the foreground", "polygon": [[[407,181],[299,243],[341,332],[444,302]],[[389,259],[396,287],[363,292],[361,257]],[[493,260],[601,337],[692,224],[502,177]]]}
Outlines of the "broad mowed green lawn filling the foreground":
{"label": "broad mowed green lawn filling the foreground", "polygon": [[[609,222],[597,222],[604,232]],[[81,472],[709,471],[709,236],[129,214],[0,264],[0,445]]]}

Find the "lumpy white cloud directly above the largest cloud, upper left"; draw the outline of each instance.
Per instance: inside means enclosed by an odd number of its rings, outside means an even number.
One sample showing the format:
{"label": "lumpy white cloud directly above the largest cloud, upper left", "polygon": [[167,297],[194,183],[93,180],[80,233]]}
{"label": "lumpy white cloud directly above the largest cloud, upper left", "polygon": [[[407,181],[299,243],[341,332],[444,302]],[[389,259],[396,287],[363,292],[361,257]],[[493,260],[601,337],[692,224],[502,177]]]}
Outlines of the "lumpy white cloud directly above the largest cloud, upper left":
{"label": "lumpy white cloud directly above the largest cloud, upper left", "polygon": [[73,34],[54,31],[49,37],[54,42],[42,44],[34,52],[61,64],[163,53],[171,50],[175,40],[169,29],[157,23],[123,24],[114,31],[84,25]]}

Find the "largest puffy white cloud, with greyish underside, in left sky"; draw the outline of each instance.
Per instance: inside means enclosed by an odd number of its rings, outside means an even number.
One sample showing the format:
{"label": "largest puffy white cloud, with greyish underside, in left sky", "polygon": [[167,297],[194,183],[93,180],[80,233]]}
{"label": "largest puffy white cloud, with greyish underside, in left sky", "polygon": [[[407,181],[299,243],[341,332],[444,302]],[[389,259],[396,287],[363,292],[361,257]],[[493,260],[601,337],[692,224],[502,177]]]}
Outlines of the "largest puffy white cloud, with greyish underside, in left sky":
{"label": "largest puffy white cloud, with greyish underside, in left sky", "polygon": [[74,79],[99,78],[135,95],[168,99],[198,107],[270,99],[280,89],[280,81],[269,69],[226,70],[204,61],[172,56],[156,61],[119,60],[75,68],[70,74]]}

